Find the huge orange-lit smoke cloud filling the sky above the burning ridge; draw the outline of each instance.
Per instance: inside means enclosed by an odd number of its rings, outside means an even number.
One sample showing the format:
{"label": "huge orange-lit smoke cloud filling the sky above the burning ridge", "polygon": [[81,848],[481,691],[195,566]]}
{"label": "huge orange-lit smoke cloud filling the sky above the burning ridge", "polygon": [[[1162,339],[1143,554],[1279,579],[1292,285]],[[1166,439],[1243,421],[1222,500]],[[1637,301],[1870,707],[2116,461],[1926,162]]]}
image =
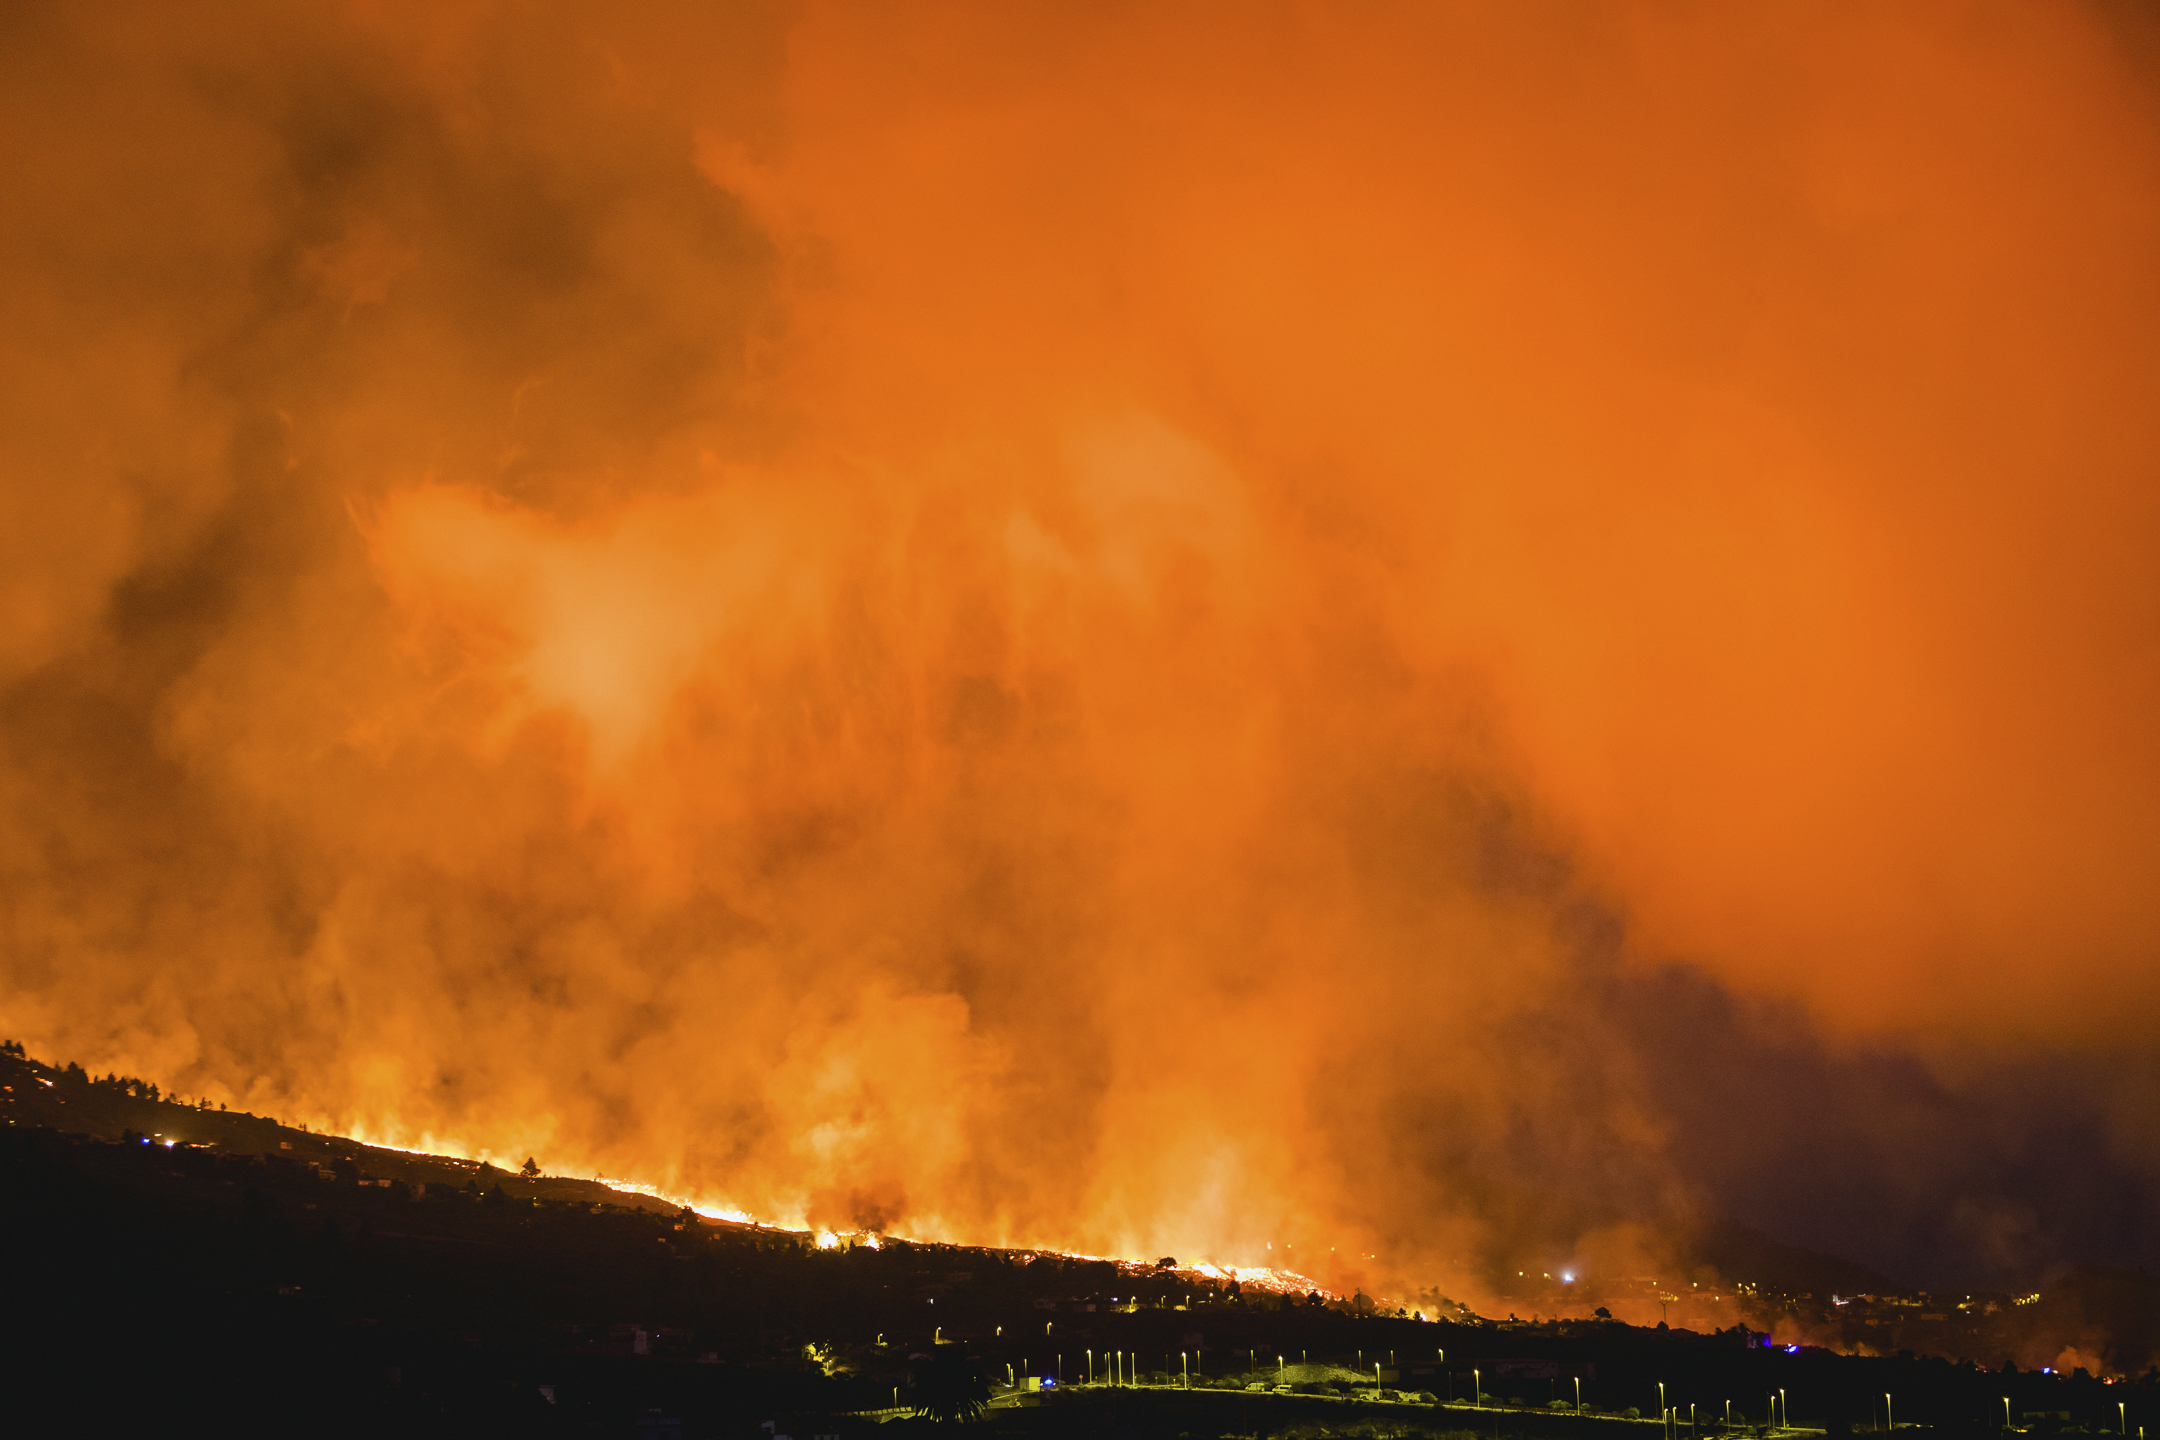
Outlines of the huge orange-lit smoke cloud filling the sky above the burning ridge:
{"label": "huge orange-lit smoke cloud filling the sky above the burning ridge", "polygon": [[2149,37],[438,9],[0,22],[0,1028],[1473,1298],[2160,1254]]}

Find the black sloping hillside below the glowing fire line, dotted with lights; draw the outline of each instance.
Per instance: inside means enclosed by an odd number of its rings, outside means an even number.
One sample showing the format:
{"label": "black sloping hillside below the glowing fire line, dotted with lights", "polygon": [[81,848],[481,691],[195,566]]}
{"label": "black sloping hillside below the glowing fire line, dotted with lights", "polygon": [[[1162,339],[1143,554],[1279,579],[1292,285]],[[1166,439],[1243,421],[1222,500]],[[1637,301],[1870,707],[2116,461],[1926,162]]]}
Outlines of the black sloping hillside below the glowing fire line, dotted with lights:
{"label": "black sloping hillside below the glowing fire line, dotted with lights", "polygon": [[[812,1440],[981,1416],[981,1434],[1076,1438],[1648,1440],[1668,1434],[1659,1384],[1689,1440],[1765,1434],[1778,1390],[1832,1434],[1881,1425],[1884,1393],[1899,1427],[1935,1431],[2000,1434],[2004,1399],[2033,1431],[2160,1425],[2151,1373],[1784,1354],[1743,1328],[1421,1323],[1173,1265],[819,1250],[15,1054],[0,1082],[9,1434]],[[1091,1367],[1138,1384],[1080,1384]]]}

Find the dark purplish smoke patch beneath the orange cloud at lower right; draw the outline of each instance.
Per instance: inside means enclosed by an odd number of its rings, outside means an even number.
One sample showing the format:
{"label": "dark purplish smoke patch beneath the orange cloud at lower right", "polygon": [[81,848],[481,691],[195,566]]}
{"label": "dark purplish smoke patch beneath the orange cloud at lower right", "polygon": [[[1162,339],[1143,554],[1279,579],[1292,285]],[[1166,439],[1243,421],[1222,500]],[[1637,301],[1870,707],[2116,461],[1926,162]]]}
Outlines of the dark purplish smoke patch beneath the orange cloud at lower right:
{"label": "dark purplish smoke patch beneath the orange cloud at lower right", "polygon": [[1704,1213],[1953,1293],[2160,1261],[2149,1058],[1840,1047],[1691,969],[1609,995]]}

